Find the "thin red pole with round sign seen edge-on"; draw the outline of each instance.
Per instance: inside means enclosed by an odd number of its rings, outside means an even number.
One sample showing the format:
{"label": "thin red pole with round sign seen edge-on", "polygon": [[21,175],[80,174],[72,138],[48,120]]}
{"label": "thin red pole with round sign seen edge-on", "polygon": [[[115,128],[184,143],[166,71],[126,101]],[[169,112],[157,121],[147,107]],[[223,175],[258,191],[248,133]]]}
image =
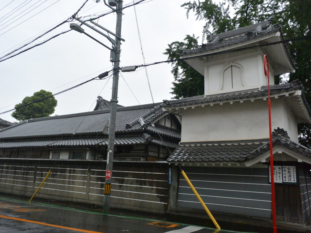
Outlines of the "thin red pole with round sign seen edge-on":
{"label": "thin red pole with round sign seen edge-on", "polygon": [[270,172],[271,172],[271,194],[272,194],[272,221],[273,221],[273,233],[276,233],[276,210],[275,210],[273,155],[272,155],[270,81],[269,81],[269,66],[268,66],[267,55],[263,56],[263,65],[264,65],[264,70],[265,70],[265,76],[268,79],[268,109],[269,109],[269,135],[270,135]]}

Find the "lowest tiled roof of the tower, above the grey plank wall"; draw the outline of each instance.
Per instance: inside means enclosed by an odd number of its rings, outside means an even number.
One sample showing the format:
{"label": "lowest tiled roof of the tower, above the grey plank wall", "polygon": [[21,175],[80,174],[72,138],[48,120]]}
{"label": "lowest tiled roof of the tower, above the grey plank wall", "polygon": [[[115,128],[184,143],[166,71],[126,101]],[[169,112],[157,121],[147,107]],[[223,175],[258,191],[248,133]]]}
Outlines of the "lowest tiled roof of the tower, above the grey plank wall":
{"label": "lowest tiled roof of the tower, above the grey plank wall", "polygon": [[[272,132],[272,145],[282,145],[301,157],[311,159],[311,150],[290,140],[287,132],[279,127]],[[255,159],[269,150],[269,139],[218,143],[180,143],[167,161],[177,163],[242,163]]]}

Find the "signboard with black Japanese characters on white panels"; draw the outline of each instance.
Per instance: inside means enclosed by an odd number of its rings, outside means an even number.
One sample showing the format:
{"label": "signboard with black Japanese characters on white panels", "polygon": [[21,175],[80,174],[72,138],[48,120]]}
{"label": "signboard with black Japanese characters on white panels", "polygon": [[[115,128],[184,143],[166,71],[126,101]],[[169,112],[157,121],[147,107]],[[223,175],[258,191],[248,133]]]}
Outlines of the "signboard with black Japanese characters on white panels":
{"label": "signboard with black Japanese characters on white panels", "polygon": [[[271,183],[271,167],[269,166],[269,183]],[[298,184],[296,166],[273,166],[274,183]]]}

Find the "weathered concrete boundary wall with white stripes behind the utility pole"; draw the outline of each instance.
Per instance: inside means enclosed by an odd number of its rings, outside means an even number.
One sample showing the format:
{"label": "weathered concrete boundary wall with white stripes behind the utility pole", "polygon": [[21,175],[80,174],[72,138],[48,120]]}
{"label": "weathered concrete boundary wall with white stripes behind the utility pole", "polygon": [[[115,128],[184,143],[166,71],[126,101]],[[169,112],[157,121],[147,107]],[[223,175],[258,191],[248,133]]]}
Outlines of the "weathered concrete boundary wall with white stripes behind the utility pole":
{"label": "weathered concrete boundary wall with white stripes behind the utility pole", "polygon": [[[106,161],[0,159],[0,193],[103,205]],[[163,214],[168,208],[166,162],[114,161],[110,208]],[[34,199],[35,200],[35,199]]]}

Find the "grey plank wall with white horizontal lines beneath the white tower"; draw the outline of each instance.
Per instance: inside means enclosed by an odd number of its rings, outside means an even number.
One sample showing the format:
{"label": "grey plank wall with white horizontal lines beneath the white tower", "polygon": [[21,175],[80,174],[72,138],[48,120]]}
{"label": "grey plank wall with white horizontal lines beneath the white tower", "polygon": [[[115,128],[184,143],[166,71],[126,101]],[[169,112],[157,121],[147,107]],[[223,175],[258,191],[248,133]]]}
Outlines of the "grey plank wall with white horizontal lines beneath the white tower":
{"label": "grey plank wall with white horizontal lines beneath the white tower", "polygon": [[[239,167],[184,167],[209,210],[271,217],[268,170]],[[177,207],[203,209],[186,180],[179,176]]]}

